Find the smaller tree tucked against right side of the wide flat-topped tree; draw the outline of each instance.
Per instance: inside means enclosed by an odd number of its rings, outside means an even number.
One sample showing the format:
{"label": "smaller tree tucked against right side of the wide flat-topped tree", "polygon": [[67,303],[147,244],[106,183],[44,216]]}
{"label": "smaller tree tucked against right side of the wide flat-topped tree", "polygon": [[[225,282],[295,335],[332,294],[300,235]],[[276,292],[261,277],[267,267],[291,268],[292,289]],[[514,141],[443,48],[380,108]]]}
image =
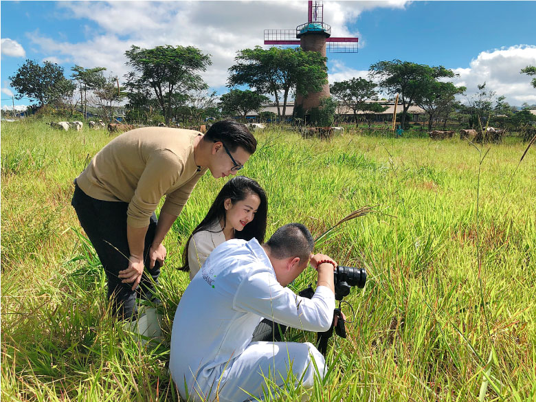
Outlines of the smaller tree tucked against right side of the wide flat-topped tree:
{"label": "smaller tree tucked against right side of the wide flat-topped tree", "polygon": [[454,96],[464,93],[467,88],[456,87],[452,82],[429,80],[426,82],[415,103],[428,115],[428,130],[432,130],[434,119],[449,115],[456,104]]}

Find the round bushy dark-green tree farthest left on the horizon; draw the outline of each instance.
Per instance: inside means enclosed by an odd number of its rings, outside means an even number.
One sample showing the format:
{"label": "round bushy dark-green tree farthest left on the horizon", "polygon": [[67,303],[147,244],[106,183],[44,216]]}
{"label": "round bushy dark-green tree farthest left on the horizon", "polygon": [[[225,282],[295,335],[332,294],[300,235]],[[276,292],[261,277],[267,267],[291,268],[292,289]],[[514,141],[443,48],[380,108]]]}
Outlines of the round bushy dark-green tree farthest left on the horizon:
{"label": "round bushy dark-green tree farthest left on the horizon", "polygon": [[38,107],[73,96],[74,85],[63,76],[63,67],[45,61],[43,66],[34,60],[26,60],[16,74],[9,77],[11,86],[18,92],[16,99],[25,96],[38,102]]}

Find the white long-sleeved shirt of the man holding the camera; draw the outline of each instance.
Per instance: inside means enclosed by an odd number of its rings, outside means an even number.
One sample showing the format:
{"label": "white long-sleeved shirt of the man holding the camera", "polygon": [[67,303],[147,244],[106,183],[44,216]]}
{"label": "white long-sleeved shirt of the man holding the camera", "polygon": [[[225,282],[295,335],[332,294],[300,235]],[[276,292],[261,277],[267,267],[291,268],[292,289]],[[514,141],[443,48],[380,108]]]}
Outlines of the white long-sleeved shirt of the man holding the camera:
{"label": "white long-sleeved shirt of the man holding the camera", "polygon": [[260,320],[327,331],[335,295],[319,286],[313,298],[282,287],[256,238],[232,239],[210,254],[186,288],[173,321],[170,372],[179,392],[215,389],[252,340]]}

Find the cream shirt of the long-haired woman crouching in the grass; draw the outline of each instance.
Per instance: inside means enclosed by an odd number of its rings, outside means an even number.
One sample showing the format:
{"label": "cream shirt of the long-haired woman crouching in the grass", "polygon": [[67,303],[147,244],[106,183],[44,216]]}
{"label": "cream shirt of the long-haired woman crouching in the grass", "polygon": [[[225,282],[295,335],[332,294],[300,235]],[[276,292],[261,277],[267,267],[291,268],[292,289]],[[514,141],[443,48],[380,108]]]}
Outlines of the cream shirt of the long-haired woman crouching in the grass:
{"label": "cream shirt of the long-haired woman crouching in the grass", "polygon": [[213,249],[225,242],[225,234],[218,221],[206,230],[194,233],[188,243],[188,266],[190,267],[190,280],[201,269],[208,255]]}

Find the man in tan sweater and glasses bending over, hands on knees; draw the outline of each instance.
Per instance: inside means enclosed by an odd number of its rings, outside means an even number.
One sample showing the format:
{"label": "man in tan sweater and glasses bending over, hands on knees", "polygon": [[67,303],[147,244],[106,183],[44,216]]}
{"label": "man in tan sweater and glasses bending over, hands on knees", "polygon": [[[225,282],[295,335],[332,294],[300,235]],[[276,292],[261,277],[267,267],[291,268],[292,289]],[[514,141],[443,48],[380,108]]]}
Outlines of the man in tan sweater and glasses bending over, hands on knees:
{"label": "man in tan sweater and glasses bending over, hands on knees", "polygon": [[[71,205],[107,274],[113,313],[131,319],[137,312],[137,292],[153,297],[153,282],[166,258],[162,241],[199,178],[206,170],[215,178],[236,174],[256,145],[243,124],[223,120],[205,135],[135,129],[91,159],[75,180]],[[157,219],[155,210],[164,195]]]}

